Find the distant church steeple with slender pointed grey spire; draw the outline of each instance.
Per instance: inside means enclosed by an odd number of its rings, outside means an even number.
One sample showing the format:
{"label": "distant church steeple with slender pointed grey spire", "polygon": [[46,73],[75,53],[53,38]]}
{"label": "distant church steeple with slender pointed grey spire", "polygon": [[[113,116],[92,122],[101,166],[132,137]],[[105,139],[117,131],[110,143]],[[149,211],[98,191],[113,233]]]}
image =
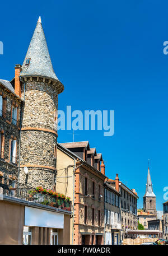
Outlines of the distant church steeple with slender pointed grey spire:
{"label": "distant church steeple with slender pointed grey spire", "polygon": [[143,210],[144,212],[149,212],[157,215],[156,212],[156,196],[153,193],[150,168],[148,168],[147,184],[146,184],[146,193],[143,197]]}

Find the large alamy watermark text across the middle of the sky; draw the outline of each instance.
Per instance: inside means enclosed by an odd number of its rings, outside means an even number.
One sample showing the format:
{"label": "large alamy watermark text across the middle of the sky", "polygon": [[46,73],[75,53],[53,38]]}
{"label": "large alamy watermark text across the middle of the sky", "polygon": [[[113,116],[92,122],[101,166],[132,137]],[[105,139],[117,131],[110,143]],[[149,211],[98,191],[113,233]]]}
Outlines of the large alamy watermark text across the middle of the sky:
{"label": "large alamy watermark text across the middle of the sky", "polygon": [[71,110],[67,106],[67,112],[58,110],[55,112],[55,128],[58,130],[92,130],[104,131],[104,136],[114,134],[114,110]]}

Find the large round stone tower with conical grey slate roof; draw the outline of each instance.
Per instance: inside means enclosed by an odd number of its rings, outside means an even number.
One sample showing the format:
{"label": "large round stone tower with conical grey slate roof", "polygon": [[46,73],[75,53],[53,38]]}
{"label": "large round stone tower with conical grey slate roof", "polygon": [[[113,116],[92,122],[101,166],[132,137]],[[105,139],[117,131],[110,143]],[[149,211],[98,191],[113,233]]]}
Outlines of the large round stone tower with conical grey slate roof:
{"label": "large round stone tower with conical grey slate roof", "polygon": [[[58,94],[64,86],[54,73],[39,17],[20,73],[22,108],[19,181],[54,189]],[[25,174],[24,167],[28,168]]]}

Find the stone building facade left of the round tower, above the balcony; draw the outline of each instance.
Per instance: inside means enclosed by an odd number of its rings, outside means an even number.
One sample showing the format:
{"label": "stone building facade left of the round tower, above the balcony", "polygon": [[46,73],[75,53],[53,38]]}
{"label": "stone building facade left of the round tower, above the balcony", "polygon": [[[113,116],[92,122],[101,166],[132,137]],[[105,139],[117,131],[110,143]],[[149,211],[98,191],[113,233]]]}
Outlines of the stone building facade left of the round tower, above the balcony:
{"label": "stone building facade left of the round tower, above the balcony", "polygon": [[12,82],[0,80],[0,176],[14,180],[18,175],[22,102]]}

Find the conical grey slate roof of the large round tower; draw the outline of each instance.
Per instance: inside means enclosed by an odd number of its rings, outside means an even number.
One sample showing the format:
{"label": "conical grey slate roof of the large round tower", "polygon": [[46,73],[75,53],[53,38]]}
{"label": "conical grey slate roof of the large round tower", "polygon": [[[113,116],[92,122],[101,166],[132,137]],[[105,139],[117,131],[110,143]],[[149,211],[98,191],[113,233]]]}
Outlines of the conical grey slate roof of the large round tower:
{"label": "conical grey slate roof of the large round tower", "polygon": [[[29,58],[30,63],[26,64],[26,60]],[[27,50],[24,63],[22,64],[20,76],[39,76],[59,81],[53,70],[40,17]]]}

